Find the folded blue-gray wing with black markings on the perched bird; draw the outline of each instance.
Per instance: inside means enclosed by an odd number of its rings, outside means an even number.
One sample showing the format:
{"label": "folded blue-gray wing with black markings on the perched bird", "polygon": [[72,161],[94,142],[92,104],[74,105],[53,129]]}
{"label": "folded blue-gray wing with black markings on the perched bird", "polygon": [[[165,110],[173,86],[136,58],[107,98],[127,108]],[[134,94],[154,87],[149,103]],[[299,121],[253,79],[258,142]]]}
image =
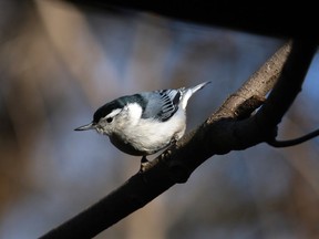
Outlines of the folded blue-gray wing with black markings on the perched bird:
{"label": "folded blue-gray wing with black markings on the perched bird", "polygon": [[147,103],[145,105],[142,118],[156,118],[165,122],[171,118],[178,110],[181,101],[181,91],[162,90],[144,93]]}

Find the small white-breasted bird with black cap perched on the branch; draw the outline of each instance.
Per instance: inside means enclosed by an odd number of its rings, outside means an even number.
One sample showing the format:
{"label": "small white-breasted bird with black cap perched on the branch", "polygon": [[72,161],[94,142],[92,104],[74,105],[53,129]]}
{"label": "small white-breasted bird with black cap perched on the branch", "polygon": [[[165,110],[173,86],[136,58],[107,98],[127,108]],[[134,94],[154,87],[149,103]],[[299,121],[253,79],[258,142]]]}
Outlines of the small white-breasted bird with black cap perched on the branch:
{"label": "small white-breasted bird with black cap perched on the branch", "polygon": [[186,129],[188,100],[210,81],[192,87],[141,92],[99,107],[93,121],[74,131],[95,129],[123,153],[142,156],[141,170],[153,155],[177,142]]}

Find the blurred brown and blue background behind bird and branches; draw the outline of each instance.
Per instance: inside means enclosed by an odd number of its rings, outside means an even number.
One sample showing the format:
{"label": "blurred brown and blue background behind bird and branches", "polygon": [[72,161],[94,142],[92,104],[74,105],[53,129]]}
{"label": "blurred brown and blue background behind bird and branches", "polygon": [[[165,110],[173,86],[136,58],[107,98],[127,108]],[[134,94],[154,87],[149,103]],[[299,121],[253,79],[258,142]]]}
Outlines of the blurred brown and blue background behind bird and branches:
{"label": "blurred brown and blue background behind bird and branches", "polygon": [[[284,42],[154,13],[0,0],[0,238],[38,238],[138,170],[107,137],[73,131],[97,107],[213,81],[188,104],[188,132]],[[318,63],[279,138],[318,127]],[[319,238],[318,155],[316,138],[214,156],[96,238]]]}

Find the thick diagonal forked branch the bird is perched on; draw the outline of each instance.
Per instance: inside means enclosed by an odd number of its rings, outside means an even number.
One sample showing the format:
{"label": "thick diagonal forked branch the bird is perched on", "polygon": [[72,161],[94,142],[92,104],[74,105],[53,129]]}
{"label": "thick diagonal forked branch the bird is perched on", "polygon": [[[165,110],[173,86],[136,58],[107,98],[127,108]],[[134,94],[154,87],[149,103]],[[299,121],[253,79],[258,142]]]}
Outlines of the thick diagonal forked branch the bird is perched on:
{"label": "thick diagonal forked branch the bird is perched on", "polygon": [[92,238],[173,185],[185,183],[213,155],[275,138],[277,124],[300,91],[315,50],[315,43],[285,44],[204,124],[150,162],[143,173],[41,238]]}

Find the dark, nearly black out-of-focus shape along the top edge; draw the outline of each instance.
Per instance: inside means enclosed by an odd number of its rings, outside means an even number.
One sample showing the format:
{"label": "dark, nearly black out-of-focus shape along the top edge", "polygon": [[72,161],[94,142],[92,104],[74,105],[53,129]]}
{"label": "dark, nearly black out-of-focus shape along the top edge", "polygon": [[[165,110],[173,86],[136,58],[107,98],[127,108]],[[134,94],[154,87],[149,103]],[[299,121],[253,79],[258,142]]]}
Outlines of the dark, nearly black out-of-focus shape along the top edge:
{"label": "dark, nearly black out-of-focus shape along the top edge", "polygon": [[[274,11],[272,4],[260,4],[245,1],[130,1],[130,0],[64,0],[78,6],[93,7],[97,10],[135,10],[155,12],[183,21],[197,22],[213,27],[235,29],[257,34],[279,38],[312,38],[319,41],[316,2],[303,2],[290,6],[289,11]],[[231,11],[240,9],[240,11]],[[268,12],[271,12],[269,18]],[[302,18],[296,18],[301,12]]]}

